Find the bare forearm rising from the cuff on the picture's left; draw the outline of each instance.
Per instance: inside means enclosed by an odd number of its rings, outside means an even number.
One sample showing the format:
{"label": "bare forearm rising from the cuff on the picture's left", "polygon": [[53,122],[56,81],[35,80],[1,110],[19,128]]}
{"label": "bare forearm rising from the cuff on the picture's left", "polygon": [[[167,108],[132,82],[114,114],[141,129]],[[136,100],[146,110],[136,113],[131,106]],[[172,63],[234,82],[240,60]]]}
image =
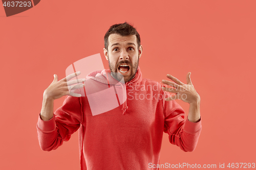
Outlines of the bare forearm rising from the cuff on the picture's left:
{"label": "bare forearm rising from the cuff on the picture's left", "polygon": [[47,98],[44,96],[42,100],[42,108],[40,112],[40,116],[42,120],[50,120],[53,117],[53,99]]}

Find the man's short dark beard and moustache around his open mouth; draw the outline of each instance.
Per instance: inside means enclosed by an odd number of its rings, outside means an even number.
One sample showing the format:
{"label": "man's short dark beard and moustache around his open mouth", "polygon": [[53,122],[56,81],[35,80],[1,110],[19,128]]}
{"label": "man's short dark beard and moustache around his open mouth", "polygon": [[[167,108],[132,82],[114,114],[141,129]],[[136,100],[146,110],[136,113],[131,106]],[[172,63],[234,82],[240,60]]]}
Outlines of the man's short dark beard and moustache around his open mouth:
{"label": "man's short dark beard and moustache around his open mouth", "polygon": [[129,77],[128,80],[124,80],[124,82],[126,83],[126,82],[129,82],[129,81],[133,80],[133,78],[135,77],[136,72],[138,70],[138,66],[139,66],[139,57],[138,57],[138,61],[134,65],[130,61],[128,61],[128,60],[122,60],[119,63],[117,63],[117,65],[115,67],[111,64],[111,62],[109,60],[109,67],[110,67],[110,71],[111,71],[111,76],[114,79],[118,80],[119,82],[123,79],[123,75],[120,74],[119,72],[116,72],[115,68],[118,69],[118,65],[123,64],[123,63],[129,64],[129,65],[132,66],[130,68],[131,76]]}

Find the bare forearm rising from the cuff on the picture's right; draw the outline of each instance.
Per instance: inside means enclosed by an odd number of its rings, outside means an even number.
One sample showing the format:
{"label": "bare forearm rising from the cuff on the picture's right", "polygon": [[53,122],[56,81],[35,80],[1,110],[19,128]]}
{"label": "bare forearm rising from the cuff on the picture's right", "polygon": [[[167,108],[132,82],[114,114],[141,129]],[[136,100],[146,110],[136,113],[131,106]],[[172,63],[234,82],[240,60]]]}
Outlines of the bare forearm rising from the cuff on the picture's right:
{"label": "bare forearm rising from the cuff on the picture's right", "polygon": [[188,120],[190,122],[198,122],[200,120],[200,100],[189,104]]}

